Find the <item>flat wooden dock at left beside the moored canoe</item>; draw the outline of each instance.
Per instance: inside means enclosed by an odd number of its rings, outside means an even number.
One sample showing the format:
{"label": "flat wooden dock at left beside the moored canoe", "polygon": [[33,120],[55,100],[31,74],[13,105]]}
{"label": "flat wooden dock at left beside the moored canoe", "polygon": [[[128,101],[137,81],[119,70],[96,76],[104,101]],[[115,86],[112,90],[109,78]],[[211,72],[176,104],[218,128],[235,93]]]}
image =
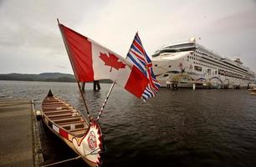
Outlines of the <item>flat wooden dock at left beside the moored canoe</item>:
{"label": "flat wooden dock at left beside the moored canoe", "polygon": [[43,155],[30,99],[0,99],[0,166],[39,166]]}

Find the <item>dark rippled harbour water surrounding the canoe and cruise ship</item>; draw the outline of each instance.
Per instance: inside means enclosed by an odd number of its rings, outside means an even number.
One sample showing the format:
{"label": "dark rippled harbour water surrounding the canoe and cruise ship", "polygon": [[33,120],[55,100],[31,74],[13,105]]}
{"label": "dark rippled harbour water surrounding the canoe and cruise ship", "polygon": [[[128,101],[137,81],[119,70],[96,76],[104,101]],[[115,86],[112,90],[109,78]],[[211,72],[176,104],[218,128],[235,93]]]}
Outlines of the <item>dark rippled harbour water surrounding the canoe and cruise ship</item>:
{"label": "dark rippled harbour water surrounding the canoe and cruise ship", "polygon": [[[110,84],[101,87],[85,87],[94,115]],[[34,99],[39,109],[49,89],[85,114],[75,83],[0,81],[0,98]],[[116,86],[100,124],[105,166],[256,166],[256,96],[246,90],[160,89],[143,103]],[[76,156],[39,125],[47,163]],[[77,160],[61,166],[84,165]]]}

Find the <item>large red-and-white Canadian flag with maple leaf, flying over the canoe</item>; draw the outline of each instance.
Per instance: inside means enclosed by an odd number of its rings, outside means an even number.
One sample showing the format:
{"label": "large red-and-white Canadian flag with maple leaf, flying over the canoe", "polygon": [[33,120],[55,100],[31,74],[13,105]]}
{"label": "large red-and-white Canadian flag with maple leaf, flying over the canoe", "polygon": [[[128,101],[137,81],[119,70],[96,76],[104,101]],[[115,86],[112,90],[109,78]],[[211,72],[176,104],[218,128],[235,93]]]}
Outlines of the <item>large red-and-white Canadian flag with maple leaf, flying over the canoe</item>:
{"label": "large red-and-white Canadian flag with maple leaf, flying over the canoe", "polygon": [[59,24],[75,77],[79,82],[111,79],[131,94],[141,98],[146,76],[132,63],[99,43]]}

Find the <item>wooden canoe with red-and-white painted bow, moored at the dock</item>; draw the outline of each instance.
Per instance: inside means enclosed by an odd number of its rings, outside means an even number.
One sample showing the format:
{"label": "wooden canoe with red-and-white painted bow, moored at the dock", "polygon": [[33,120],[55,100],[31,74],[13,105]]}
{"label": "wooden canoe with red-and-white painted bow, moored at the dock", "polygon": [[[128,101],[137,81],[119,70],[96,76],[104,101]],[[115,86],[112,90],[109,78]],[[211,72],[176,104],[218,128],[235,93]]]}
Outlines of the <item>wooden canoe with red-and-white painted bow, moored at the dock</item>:
{"label": "wooden canoe with red-and-white painted bow, moored at the dock", "polygon": [[51,90],[42,102],[42,119],[87,164],[102,164],[103,136],[100,124],[95,119],[85,119],[79,110],[54,96]]}

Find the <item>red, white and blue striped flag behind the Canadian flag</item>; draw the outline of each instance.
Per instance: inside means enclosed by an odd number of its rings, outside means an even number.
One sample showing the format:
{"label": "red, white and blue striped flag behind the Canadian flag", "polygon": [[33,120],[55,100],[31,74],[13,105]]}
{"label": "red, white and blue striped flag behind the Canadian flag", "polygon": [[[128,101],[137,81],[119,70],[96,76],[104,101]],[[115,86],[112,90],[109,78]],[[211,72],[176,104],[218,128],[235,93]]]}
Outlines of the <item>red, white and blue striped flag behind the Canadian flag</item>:
{"label": "red, white and blue striped flag behind the Canadian flag", "polygon": [[131,61],[131,63],[134,63],[149,80],[149,83],[142,94],[142,98],[146,100],[154,97],[156,95],[156,91],[160,87],[160,83],[156,80],[156,76],[152,69],[151,58],[147,56],[138,33],[136,33],[136,36],[131,43],[131,48],[127,53],[126,59]]}

